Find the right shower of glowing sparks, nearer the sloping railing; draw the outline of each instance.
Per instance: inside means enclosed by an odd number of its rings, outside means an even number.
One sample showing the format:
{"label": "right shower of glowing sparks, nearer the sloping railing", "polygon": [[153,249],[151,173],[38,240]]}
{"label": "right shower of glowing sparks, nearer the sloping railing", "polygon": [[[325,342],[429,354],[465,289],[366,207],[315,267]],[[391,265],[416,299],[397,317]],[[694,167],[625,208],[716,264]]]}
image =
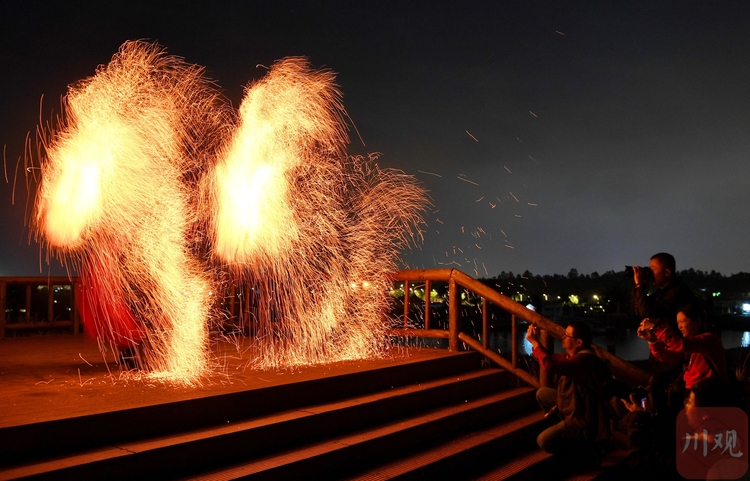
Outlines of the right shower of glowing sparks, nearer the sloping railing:
{"label": "right shower of glowing sparks, nearer the sloping railing", "polygon": [[426,204],[410,176],[346,157],[333,81],[302,59],[274,65],[247,90],[240,126],[206,177],[214,255],[261,293],[252,300],[261,367],[379,355],[387,273]]}

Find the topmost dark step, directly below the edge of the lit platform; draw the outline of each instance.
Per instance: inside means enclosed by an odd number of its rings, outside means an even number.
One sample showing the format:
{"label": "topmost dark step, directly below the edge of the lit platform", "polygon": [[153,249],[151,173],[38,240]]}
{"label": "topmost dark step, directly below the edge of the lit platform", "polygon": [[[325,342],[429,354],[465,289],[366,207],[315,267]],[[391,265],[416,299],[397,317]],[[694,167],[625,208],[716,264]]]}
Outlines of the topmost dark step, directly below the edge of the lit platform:
{"label": "topmost dark step, directly below the edge of the lit platform", "polygon": [[476,370],[482,357],[456,353],[268,388],[0,428],[0,467],[142,439],[226,426]]}

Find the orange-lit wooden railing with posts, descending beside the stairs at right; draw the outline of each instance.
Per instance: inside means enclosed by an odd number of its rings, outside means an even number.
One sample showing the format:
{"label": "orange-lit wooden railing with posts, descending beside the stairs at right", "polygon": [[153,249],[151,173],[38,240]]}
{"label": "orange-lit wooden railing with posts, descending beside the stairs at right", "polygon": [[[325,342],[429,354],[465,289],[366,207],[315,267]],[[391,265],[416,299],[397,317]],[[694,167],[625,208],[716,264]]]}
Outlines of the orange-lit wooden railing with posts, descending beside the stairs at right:
{"label": "orange-lit wooden railing with posts, descending beside the stairs at right", "polygon": [[[404,283],[404,325],[402,328],[392,330],[392,334],[405,337],[423,337],[423,338],[443,338],[448,339],[448,349],[457,351],[460,349],[462,341],[466,346],[474,349],[489,358],[504,369],[513,372],[518,378],[529,385],[539,387],[546,384],[544,379],[541,380],[519,367],[518,364],[518,320],[523,319],[526,322],[536,324],[541,329],[542,342],[545,342],[547,335],[555,339],[562,339],[565,329],[547,319],[546,317],[522,306],[518,302],[510,299],[497,292],[495,289],[482,284],[478,280],[470,277],[457,269],[424,269],[424,270],[406,270],[394,274],[394,281],[403,281]],[[415,329],[409,325],[409,292],[410,284],[414,282],[424,283],[425,290],[425,313],[424,329]],[[448,284],[448,329],[433,329],[431,323],[431,306],[430,292],[433,282]],[[465,289],[482,299],[482,335],[481,342],[467,334],[460,332],[460,306],[461,290]],[[492,303],[507,313],[511,314],[511,356],[510,361],[495,351],[489,349],[489,330],[490,319],[488,303]],[[592,346],[596,354],[602,358],[610,367],[612,374],[618,380],[631,386],[645,385],[648,381],[648,374],[642,369],[630,364],[627,361],[615,356],[609,351],[599,346]],[[544,373],[540,373],[544,376]]]}

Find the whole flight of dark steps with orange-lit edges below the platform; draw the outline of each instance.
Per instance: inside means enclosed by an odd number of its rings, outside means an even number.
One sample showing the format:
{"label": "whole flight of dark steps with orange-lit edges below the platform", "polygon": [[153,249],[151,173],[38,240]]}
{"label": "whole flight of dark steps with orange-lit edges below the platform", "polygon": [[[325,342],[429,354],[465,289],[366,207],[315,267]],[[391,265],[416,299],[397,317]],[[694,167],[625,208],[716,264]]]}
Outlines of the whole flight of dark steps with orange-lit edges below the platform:
{"label": "whole flight of dark steps with orange-lit edges below the platform", "polygon": [[558,469],[535,443],[548,426],[535,390],[477,353],[442,352],[2,428],[0,479],[535,479]]}

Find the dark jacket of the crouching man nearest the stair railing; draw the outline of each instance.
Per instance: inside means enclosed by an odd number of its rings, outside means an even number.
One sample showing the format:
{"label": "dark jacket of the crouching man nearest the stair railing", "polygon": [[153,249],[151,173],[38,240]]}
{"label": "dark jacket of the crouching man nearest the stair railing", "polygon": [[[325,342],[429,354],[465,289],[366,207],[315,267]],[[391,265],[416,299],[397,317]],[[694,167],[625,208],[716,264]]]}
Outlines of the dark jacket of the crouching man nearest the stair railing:
{"label": "dark jacket of the crouching man nearest the stair railing", "polygon": [[559,376],[557,408],[565,421],[564,437],[589,441],[607,437],[604,386],[611,375],[604,361],[591,349],[568,356],[550,354],[539,345],[532,355],[547,372]]}

